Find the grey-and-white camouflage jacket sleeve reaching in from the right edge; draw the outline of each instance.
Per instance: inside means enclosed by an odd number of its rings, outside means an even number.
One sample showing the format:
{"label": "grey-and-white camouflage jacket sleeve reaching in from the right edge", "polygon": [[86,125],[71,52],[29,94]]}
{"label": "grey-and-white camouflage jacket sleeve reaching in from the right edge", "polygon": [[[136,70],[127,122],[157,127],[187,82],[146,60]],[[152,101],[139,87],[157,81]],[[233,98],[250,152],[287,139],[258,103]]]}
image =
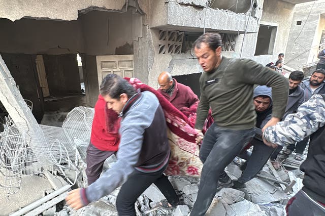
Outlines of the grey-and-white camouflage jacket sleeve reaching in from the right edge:
{"label": "grey-and-white camouflage jacket sleeve reaching in from the right edge", "polygon": [[265,140],[281,146],[302,141],[325,124],[325,102],[320,95],[314,95],[303,103],[295,114],[289,114],[284,121],[265,129]]}

